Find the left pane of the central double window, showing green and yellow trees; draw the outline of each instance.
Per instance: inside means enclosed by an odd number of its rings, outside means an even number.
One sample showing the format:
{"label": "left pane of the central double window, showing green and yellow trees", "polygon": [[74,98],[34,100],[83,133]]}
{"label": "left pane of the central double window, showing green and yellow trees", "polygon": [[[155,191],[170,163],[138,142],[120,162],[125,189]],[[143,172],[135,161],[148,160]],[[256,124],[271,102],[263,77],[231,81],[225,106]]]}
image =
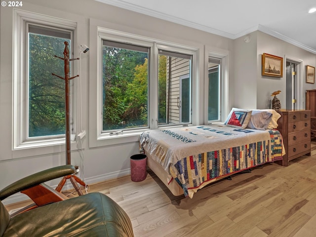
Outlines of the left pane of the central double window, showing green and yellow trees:
{"label": "left pane of the central double window, showing green and yellow trees", "polygon": [[148,47],[102,40],[102,129],[148,127]]}

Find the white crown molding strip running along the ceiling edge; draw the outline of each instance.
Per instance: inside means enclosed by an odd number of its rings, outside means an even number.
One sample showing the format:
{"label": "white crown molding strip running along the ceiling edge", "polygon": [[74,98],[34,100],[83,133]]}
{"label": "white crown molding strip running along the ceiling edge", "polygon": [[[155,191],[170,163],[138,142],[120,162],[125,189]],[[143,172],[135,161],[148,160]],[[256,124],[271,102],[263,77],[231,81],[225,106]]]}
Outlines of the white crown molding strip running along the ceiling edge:
{"label": "white crown molding strip running along the ceiling edge", "polygon": [[129,2],[126,2],[126,1],[122,1],[122,0],[95,0],[95,1],[99,1],[99,2],[102,2],[102,3],[106,3],[106,4],[109,4],[109,5],[113,5],[113,6],[117,6],[117,7],[120,7],[120,8],[124,8],[126,10],[130,10],[130,11],[134,11],[134,12],[138,12],[138,13],[141,13],[141,14],[144,14],[144,15],[149,15],[149,16],[152,16],[152,17],[156,17],[156,18],[159,18],[159,19],[162,19],[162,20],[165,20],[165,21],[170,21],[170,22],[173,22],[173,23],[177,23],[177,24],[180,24],[180,25],[183,25],[183,26],[187,26],[187,27],[191,27],[191,28],[194,28],[194,29],[197,29],[197,30],[201,30],[201,31],[204,31],[204,32],[208,32],[208,33],[211,33],[211,34],[214,34],[214,35],[218,35],[218,36],[222,36],[222,37],[226,37],[226,38],[229,38],[229,39],[232,39],[232,40],[235,40],[239,37],[242,37],[244,35],[247,35],[249,33],[252,33],[254,31],[261,31],[263,33],[266,33],[270,36],[273,36],[279,40],[283,40],[285,42],[288,42],[290,44],[293,44],[299,48],[302,48],[306,51],[309,51],[311,53],[314,53],[316,54],[316,49],[314,48],[311,48],[303,43],[300,43],[296,40],[293,40],[289,37],[286,37],[276,31],[273,31],[267,27],[264,27],[262,25],[258,25],[258,26],[255,26],[255,27],[252,27],[250,29],[247,29],[246,31],[243,31],[243,32],[240,32],[236,35],[234,34],[230,34],[230,33],[227,33],[227,32],[223,32],[223,31],[220,31],[220,30],[216,30],[214,28],[211,28],[211,27],[207,27],[207,26],[204,26],[204,25],[201,25],[201,24],[197,24],[197,23],[194,23],[194,22],[191,22],[191,21],[188,21],[188,20],[185,20],[185,19],[182,19],[182,18],[178,18],[178,17],[175,17],[175,16],[171,16],[171,15],[168,15],[168,14],[164,14],[164,13],[161,13],[161,12],[157,12],[157,11],[154,11],[152,9],[148,9],[148,8],[145,8],[145,7],[140,7],[140,6],[137,6],[135,4],[132,4],[132,3],[129,3]]}

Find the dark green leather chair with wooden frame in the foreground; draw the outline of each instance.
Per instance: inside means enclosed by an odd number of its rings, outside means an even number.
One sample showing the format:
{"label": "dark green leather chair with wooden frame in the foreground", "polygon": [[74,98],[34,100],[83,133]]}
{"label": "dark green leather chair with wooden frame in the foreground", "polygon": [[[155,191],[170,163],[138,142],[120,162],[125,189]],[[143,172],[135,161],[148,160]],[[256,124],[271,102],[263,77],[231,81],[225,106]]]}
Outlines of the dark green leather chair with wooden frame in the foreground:
{"label": "dark green leather chair with wooden frame in the foreground", "polygon": [[0,237],[133,237],[129,217],[110,197],[90,193],[67,198],[54,191],[42,191],[43,182],[75,171],[73,165],[58,166],[2,189],[0,200],[22,191],[36,204],[10,216],[0,202]]}

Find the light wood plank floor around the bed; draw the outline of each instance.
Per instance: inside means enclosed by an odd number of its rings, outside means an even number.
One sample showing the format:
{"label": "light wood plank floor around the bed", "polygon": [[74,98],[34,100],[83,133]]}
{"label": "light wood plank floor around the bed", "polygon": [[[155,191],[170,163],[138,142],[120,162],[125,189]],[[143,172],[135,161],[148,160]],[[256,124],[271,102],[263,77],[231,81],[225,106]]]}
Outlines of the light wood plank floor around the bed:
{"label": "light wood plank floor around the bed", "polygon": [[[312,156],[288,167],[266,164],[203,188],[192,199],[174,197],[149,170],[91,185],[129,215],[135,237],[315,237],[316,140]],[[7,209],[25,203],[11,204]]]}

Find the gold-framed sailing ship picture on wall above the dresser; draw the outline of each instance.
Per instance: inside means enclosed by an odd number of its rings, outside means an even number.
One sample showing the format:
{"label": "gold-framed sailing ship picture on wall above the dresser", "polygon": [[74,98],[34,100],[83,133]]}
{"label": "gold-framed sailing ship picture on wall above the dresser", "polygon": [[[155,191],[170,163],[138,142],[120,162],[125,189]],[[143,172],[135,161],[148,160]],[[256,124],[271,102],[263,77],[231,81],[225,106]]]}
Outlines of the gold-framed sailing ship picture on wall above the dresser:
{"label": "gold-framed sailing ship picture on wall above the dresser", "polygon": [[283,76],[283,58],[268,53],[262,54],[262,76]]}

